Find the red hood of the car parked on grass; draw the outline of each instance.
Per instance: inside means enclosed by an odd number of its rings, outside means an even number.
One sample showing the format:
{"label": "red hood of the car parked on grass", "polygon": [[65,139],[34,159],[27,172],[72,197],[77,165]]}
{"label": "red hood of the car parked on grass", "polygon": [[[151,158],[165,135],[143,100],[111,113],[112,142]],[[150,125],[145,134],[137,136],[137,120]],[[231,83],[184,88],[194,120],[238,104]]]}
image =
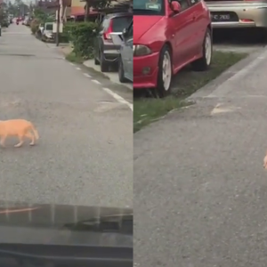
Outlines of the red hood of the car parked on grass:
{"label": "red hood of the car parked on grass", "polygon": [[138,44],[142,36],[158,21],[164,20],[163,16],[134,16],[134,44]]}

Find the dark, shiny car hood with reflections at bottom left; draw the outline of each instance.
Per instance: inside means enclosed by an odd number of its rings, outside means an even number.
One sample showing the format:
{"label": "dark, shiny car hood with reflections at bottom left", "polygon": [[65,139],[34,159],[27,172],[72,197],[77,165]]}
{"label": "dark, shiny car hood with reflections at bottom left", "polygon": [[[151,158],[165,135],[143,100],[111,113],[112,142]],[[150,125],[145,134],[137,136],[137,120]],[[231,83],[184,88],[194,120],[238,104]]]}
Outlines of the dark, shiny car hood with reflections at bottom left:
{"label": "dark, shiny car hood with reflections at bottom left", "polygon": [[133,247],[133,210],[0,202],[0,244]]}

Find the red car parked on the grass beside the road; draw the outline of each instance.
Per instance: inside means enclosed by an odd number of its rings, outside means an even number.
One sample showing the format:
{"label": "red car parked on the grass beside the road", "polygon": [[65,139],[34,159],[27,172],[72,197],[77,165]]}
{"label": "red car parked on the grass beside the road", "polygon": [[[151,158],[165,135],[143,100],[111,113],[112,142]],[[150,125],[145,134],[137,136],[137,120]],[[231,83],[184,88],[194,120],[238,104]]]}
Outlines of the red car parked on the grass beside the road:
{"label": "red car parked on the grass beside the road", "polygon": [[172,77],[212,60],[211,16],[203,0],[134,0],[134,89],[171,91]]}

